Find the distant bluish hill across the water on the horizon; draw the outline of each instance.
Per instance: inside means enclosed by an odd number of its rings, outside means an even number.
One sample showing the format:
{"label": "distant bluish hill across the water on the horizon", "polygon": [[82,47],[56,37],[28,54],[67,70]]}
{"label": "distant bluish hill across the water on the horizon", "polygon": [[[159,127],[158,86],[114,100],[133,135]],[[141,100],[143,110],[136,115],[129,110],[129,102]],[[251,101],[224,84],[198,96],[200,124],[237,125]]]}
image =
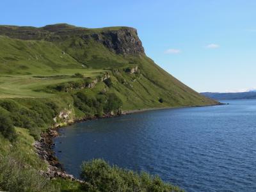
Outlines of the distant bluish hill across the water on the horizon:
{"label": "distant bluish hill across the water on the horizon", "polygon": [[228,99],[256,99],[256,92],[240,92],[240,93],[200,93],[205,97],[216,100],[228,100]]}

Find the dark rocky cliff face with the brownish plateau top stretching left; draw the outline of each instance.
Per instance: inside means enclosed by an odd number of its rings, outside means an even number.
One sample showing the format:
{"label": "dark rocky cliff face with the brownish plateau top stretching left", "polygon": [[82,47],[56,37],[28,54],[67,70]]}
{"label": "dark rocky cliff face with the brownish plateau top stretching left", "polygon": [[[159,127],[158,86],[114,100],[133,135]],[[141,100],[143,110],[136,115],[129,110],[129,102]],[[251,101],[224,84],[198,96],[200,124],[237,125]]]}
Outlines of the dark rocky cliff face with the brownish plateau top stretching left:
{"label": "dark rocky cliff face with the brownish plateau top stretching left", "polygon": [[128,27],[87,29],[68,24],[54,24],[43,28],[0,26],[0,35],[22,40],[47,40],[50,42],[65,41],[74,37],[81,38],[84,42],[93,39],[116,54],[145,54],[136,29]]}

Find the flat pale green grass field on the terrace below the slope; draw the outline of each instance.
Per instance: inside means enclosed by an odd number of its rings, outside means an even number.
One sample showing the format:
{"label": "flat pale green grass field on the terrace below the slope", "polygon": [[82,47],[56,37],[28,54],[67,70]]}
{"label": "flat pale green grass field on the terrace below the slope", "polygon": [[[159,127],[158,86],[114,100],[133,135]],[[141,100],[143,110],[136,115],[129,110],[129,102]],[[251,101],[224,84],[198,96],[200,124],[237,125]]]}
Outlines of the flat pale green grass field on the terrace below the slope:
{"label": "flat pale green grass field on the terrace below the slope", "polygon": [[48,76],[45,76],[45,74],[44,76],[42,74],[0,75],[0,98],[52,97],[54,94],[36,92],[35,90],[52,84],[79,80],[79,78],[72,77],[76,72],[83,74],[84,77],[95,77],[99,76],[100,72],[104,72],[104,70],[63,69],[58,73],[48,74]]}

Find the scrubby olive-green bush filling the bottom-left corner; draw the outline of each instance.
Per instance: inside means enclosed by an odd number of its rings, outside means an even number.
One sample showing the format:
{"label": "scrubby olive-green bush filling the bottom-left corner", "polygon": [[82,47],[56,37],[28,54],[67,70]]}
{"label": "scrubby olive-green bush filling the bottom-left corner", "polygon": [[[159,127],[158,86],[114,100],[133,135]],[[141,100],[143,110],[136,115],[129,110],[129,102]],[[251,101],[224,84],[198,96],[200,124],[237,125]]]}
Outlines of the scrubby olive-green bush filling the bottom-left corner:
{"label": "scrubby olive-green bush filling the bottom-left corner", "polygon": [[58,191],[51,181],[12,156],[0,155],[0,191]]}

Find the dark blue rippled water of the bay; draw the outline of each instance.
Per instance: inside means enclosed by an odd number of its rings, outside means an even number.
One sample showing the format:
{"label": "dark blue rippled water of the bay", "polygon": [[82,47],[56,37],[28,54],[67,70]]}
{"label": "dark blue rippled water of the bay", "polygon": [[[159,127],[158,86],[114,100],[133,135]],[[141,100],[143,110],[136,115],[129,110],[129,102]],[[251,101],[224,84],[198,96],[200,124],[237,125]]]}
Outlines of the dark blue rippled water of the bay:
{"label": "dark blue rippled water of the bay", "polygon": [[76,176],[82,161],[100,157],[186,191],[256,191],[256,100],[226,102],[64,127],[56,155]]}

